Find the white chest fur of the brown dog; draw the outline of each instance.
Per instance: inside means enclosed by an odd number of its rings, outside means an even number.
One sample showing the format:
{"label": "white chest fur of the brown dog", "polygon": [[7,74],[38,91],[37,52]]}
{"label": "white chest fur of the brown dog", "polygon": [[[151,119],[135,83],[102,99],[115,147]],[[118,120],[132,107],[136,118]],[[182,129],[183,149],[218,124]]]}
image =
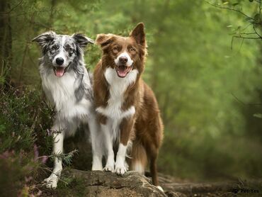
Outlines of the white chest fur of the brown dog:
{"label": "white chest fur of the brown dog", "polygon": [[130,117],[135,114],[135,106],[131,106],[126,111],[123,111],[122,104],[124,94],[128,86],[134,83],[137,79],[138,71],[133,69],[127,77],[120,78],[115,72],[115,69],[107,68],[105,72],[106,81],[110,85],[110,97],[108,99],[108,105],[106,108],[98,107],[96,111],[103,114],[109,120],[107,125],[110,125],[113,132],[118,132],[119,124],[123,118]]}

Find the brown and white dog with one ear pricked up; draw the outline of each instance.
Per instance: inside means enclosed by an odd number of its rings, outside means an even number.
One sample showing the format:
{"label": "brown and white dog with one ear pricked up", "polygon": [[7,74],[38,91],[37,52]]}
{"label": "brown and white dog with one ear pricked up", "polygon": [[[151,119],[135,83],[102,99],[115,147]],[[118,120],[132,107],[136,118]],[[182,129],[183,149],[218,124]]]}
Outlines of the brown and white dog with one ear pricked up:
{"label": "brown and white dog with one ear pricked up", "polygon": [[[147,159],[153,184],[158,186],[156,158],[163,138],[163,125],[153,91],[141,78],[147,55],[144,24],[129,37],[99,34],[96,44],[103,56],[93,73],[98,120],[105,135],[106,171],[127,171],[127,147],[132,170],[144,173]],[[118,152],[114,154],[114,148]]]}

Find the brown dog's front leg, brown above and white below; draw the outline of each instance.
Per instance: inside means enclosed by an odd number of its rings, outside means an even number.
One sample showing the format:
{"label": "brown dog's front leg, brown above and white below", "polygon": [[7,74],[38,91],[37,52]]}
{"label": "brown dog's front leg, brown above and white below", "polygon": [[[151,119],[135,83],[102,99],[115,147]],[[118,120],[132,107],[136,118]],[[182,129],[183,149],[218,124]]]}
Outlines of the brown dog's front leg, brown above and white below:
{"label": "brown dog's front leg, brown above and white below", "polygon": [[135,123],[134,118],[124,118],[120,124],[120,144],[115,161],[115,173],[125,174],[127,167],[125,166],[125,156],[127,154],[127,143],[130,140],[130,133]]}

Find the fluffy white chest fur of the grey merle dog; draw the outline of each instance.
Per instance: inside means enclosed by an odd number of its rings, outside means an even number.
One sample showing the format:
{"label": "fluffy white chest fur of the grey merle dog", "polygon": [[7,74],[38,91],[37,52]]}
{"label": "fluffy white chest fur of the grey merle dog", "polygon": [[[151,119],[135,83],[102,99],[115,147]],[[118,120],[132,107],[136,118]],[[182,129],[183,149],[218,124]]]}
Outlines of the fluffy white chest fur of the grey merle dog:
{"label": "fluffy white chest fur of the grey merle dog", "polygon": [[57,115],[67,119],[87,116],[91,102],[87,99],[76,101],[74,91],[79,86],[76,74],[66,72],[63,77],[56,77],[52,71],[42,69],[40,67],[42,87],[47,98],[55,105]]}

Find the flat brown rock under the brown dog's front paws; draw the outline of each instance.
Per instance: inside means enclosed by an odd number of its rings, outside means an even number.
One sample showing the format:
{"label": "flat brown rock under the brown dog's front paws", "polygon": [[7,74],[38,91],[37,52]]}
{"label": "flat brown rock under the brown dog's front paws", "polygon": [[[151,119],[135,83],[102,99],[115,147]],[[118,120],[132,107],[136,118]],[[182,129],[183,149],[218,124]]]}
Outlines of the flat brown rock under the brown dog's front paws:
{"label": "flat brown rock under the brown dog's front paws", "polygon": [[105,171],[71,170],[74,178],[84,179],[86,196],[166,196],[145,176],[127,171],[123,176]]}

